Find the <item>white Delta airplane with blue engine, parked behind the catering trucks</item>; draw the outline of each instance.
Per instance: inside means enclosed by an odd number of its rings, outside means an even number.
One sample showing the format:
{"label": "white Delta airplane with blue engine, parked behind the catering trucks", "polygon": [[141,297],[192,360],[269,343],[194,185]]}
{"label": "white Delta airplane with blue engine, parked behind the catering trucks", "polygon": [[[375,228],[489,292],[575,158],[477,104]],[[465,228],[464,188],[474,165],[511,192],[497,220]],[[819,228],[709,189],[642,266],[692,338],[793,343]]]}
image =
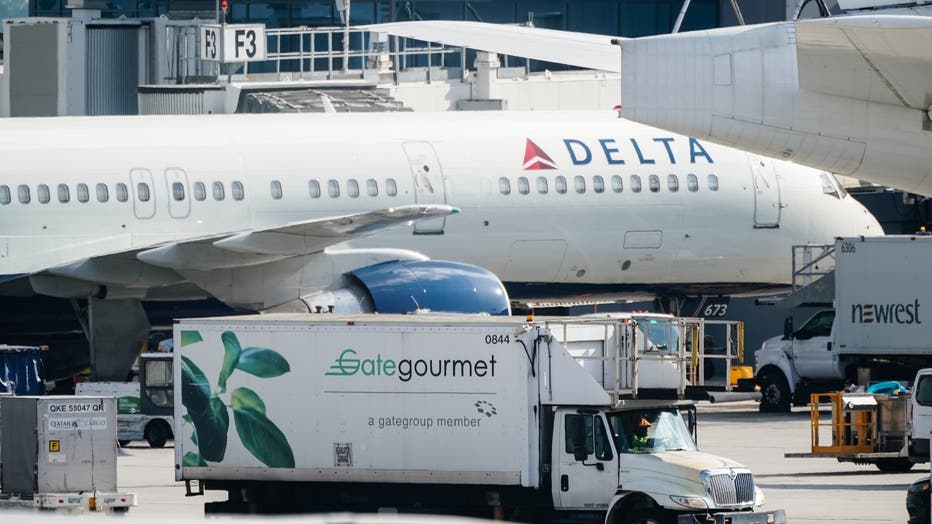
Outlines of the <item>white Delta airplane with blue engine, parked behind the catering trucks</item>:
{"label": "white Delta airplane with blue engine, parked behind the catering trucks", "polygon": [[[111,376],[148,332],[141,300],[456,310],[445,287],[507,310],[463,264],[519,292],[768,292],[790,282],[792,245],[882,234],[825,172],[612,112],[6,119],[0,133],[0,294],[88,299]],[[115,341],[128,348],[104,353]]]}

